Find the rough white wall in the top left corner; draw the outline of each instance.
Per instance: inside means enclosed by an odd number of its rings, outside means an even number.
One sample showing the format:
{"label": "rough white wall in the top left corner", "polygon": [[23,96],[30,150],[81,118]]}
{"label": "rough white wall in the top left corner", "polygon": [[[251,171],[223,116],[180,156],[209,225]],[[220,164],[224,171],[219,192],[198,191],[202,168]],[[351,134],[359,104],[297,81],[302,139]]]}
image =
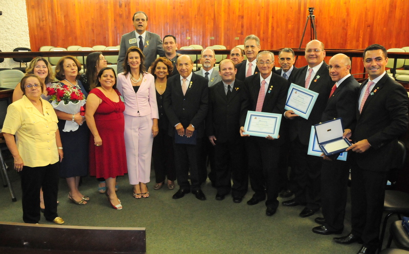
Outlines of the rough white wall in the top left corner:
{"label": "rough white wall in the top left corner", "polygon": [[[12,52],[16,47],[30,48],[29,26],[25,0],[0,0],[0,50]],[[19,67],[12,58],[5,58],[0,68]]]}

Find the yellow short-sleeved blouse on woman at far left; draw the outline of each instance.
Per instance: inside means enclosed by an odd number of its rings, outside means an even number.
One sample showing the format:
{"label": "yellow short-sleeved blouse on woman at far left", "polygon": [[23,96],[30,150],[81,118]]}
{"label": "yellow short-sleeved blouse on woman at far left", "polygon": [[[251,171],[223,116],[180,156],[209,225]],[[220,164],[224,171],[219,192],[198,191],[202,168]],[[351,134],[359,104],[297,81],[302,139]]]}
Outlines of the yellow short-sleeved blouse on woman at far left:
{"label": "yellow short-sleeved blouse on woman at far left", "polygon": [[16,144],[25,166],[43,167],[58,162],[55,132],[58,119],[53,106],[41,98],[42,115],[24,95],[7,108],[3,133],[16,135]]}

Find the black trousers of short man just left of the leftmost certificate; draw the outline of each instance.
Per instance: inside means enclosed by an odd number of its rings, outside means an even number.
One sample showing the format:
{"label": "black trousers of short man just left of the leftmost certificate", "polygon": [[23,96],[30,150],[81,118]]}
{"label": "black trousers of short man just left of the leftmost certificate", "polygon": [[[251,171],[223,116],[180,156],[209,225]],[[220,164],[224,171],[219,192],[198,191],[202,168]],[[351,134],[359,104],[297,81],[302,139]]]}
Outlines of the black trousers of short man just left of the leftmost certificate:
{"label": "black trousers of short man just left of the leftmost certificate", "polygon": [[[248,189],[243,138],[223,143],[216,140],[214,150],[217,193],[226,195],[232,191],[233,197],[243,197]],[[233,180],[233,186],[231,180]]]}

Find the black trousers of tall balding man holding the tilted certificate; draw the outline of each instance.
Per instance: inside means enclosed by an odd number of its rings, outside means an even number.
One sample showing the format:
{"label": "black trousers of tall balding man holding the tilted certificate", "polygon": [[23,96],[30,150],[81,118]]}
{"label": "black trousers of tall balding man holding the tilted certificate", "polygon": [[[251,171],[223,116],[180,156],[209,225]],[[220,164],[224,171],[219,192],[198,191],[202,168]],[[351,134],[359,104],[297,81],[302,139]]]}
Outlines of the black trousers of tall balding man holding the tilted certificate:
{"label": "black trousers of tall balding man holding the tilted certificate", "polygon": [[308,209],[320,209],[322,158],[307,155],[308,146],[303,145],[298,138],[291,144],[295,160],[294,182],[296,185],[293,190],[296,194],[295,199],[300,203],[306,203]]}

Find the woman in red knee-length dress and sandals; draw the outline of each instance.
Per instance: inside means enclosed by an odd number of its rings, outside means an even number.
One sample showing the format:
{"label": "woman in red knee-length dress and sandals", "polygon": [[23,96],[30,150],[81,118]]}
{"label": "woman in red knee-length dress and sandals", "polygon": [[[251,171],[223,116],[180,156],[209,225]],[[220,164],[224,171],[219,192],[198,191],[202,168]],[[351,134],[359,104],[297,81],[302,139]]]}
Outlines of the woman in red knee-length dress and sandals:
{"label": "woman in red knee-length dress and sandals", "polygon": [[112,208],[121,210],[121,201],[115,192],[118,175],[124,175],[126,154],[124,140],[124,110],[116,85],[115,71],[105,67],[98,73],[97,87],[89,92],[86,101],[86,124],[92,133],[89,139],[89,171],[105,179]]}

